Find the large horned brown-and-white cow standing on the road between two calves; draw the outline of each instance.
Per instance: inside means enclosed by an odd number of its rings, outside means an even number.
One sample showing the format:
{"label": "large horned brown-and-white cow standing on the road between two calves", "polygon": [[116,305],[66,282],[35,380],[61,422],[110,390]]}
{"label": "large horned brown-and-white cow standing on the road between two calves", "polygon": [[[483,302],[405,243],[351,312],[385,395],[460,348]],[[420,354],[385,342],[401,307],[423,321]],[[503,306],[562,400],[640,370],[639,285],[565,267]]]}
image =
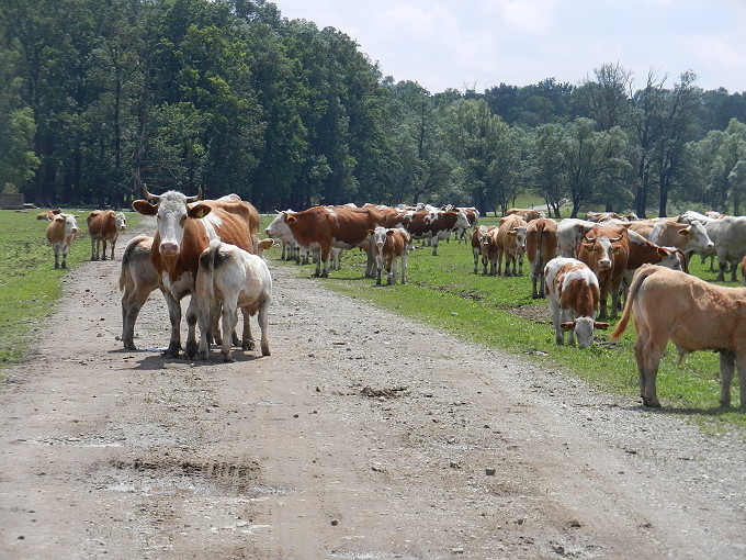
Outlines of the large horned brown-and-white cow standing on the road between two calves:
{"label": "large horned brown-and-white cow standing on the road between two calves", "polygon": [[[200,255],[215,238],[252,251],[256,244],[247,216],[253,206],[242,201],[202,201],[202,189],[194,197],[178,191],[156,195],[144,184],[143,192],[148,200],[136,200],[133,208],[143,215],[158,217],[150,260],[158,272],[171,321],[171,338],[163,356],[177,358],[181,349],[181,300],[194,294]],[[233,208],[236,213],[225,208]],[[197,351],[196,321],[197,298],[192,296],[187,309],[188,358]]]}

